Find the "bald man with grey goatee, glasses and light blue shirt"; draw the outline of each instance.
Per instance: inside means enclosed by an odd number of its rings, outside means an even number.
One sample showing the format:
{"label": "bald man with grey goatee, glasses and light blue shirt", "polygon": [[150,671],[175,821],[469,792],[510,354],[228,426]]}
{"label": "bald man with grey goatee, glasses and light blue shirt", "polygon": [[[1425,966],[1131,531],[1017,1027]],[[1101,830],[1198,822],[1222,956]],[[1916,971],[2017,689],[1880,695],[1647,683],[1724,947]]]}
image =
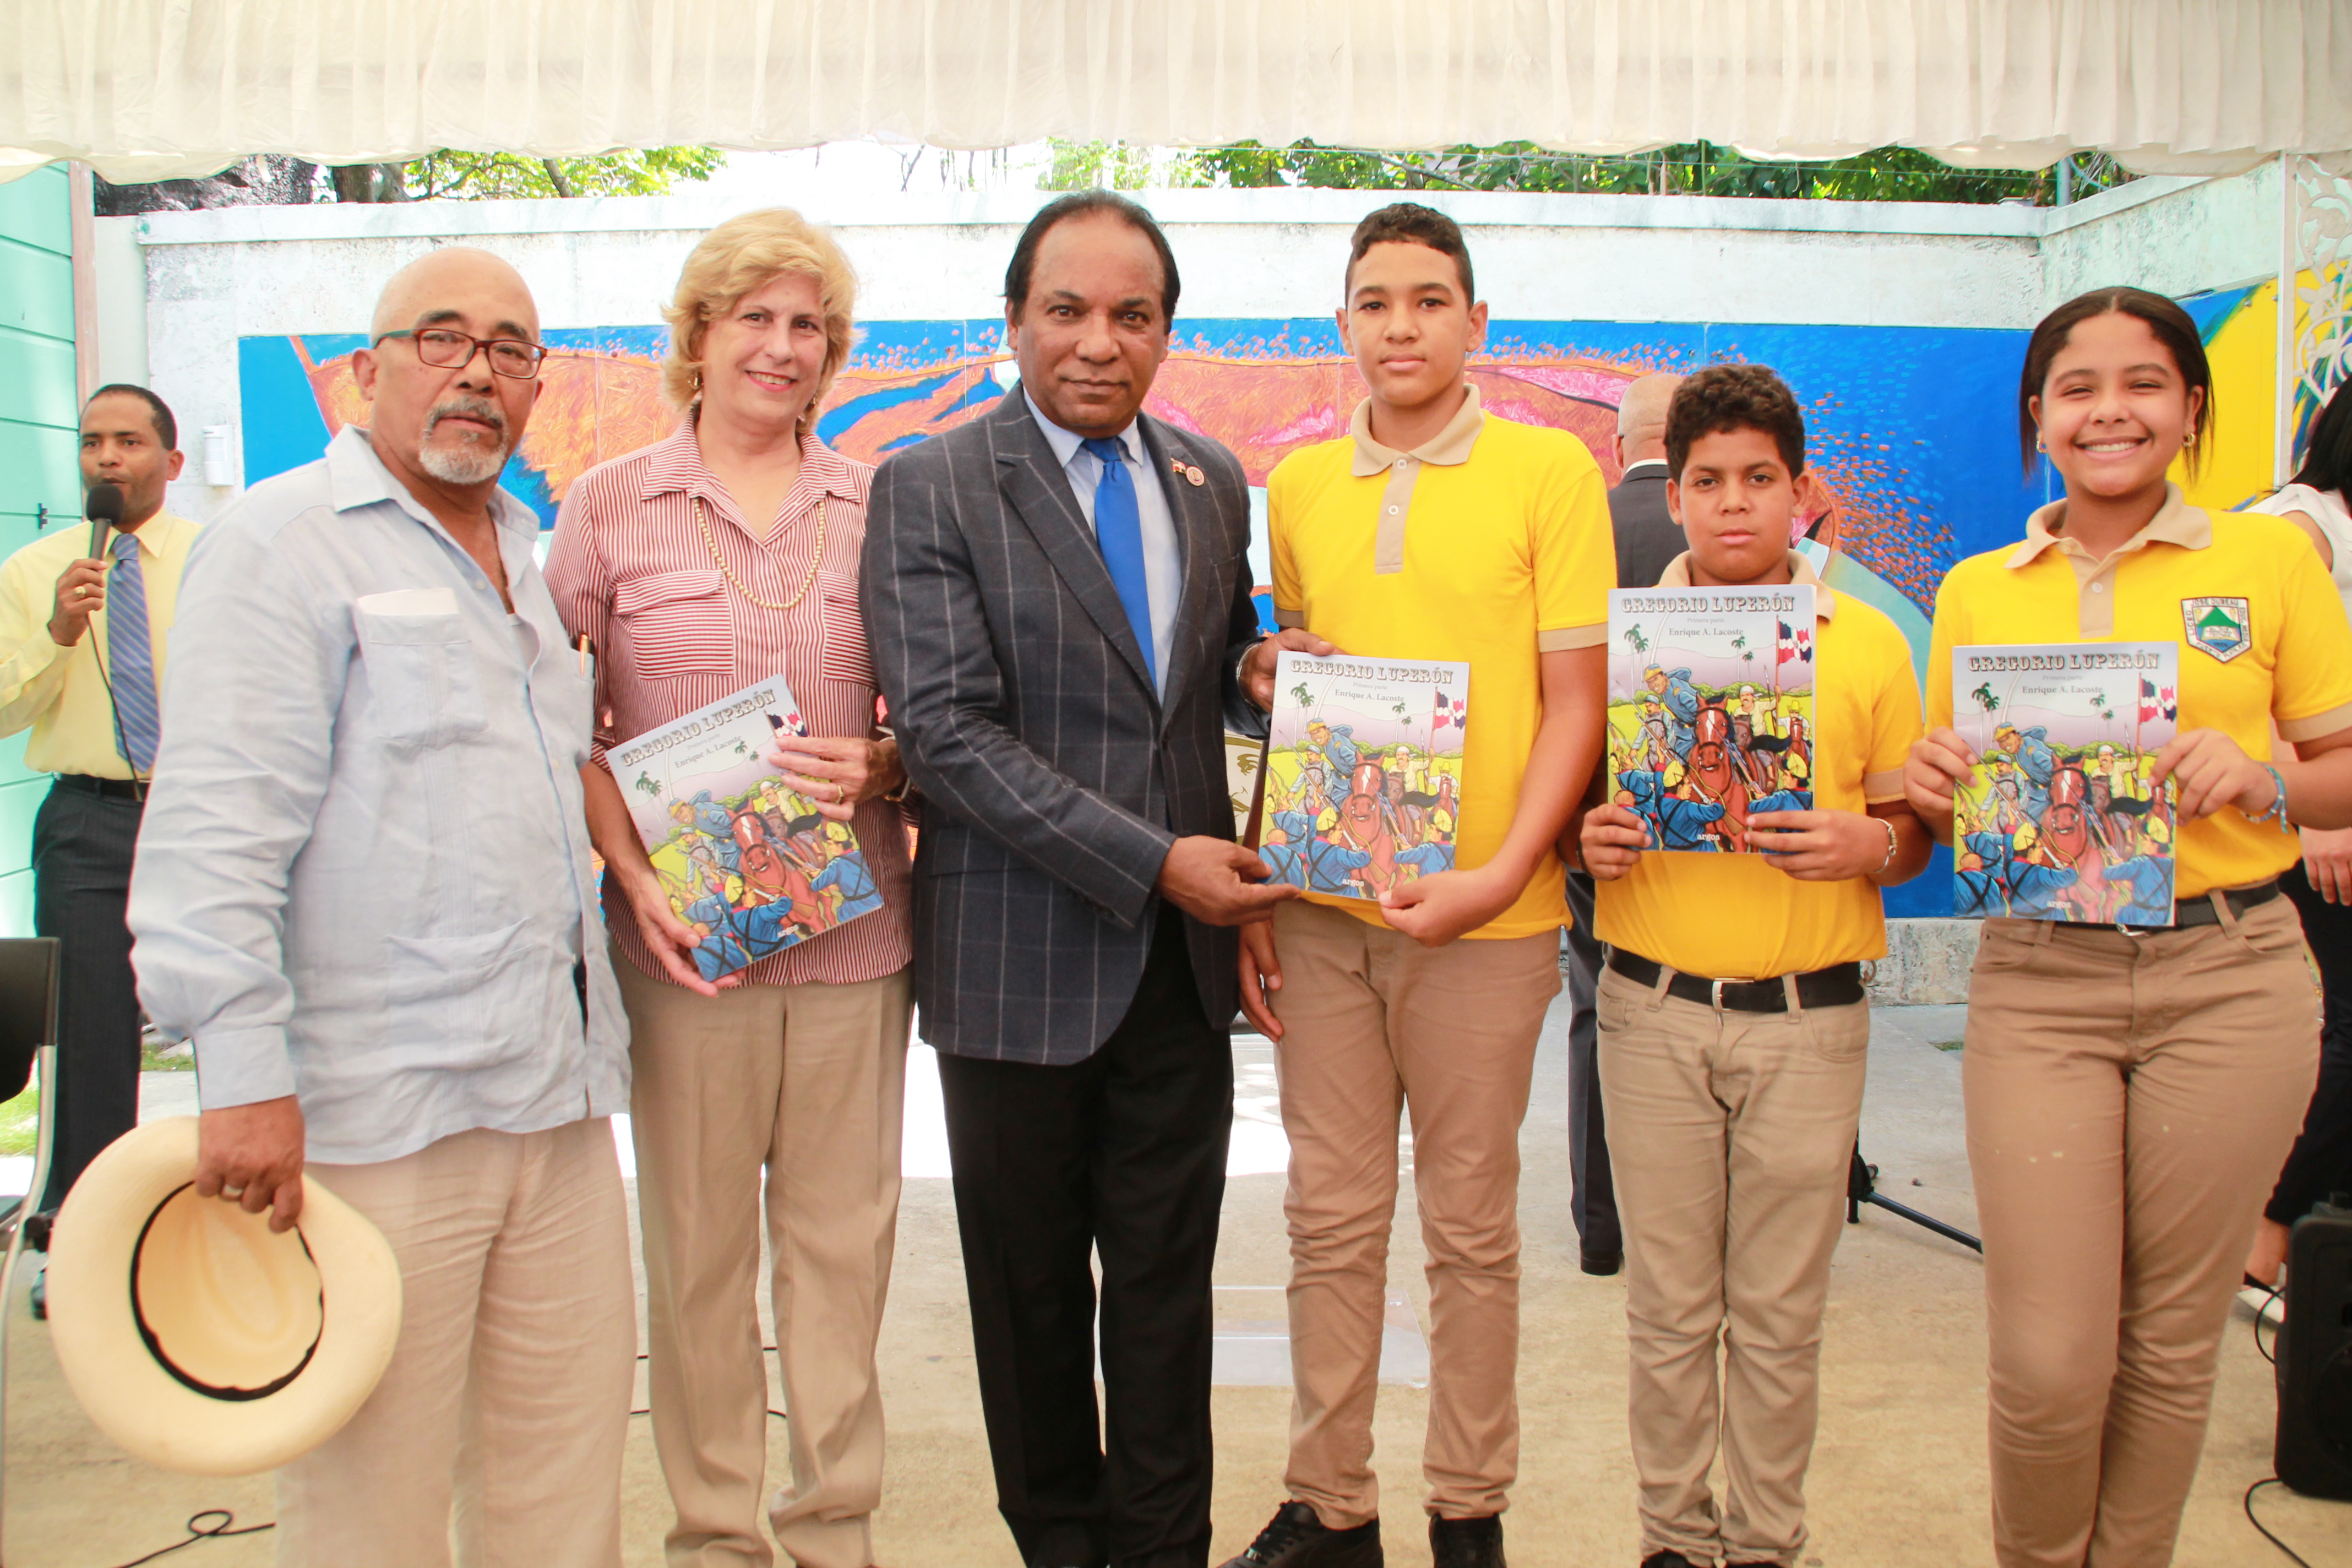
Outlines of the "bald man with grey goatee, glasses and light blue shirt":
{"label": "bald man with grey goatee, glasses and light blue shirt", "polygon": [[139,999],[195,1041],[195,1190],[285,1229],[308,1168],[402,1272],[381,1385],[278,1472],[280,1563],[445,1563],[452,1519],[480,1563],[621,1561],[590,682],[499,489],[541,357],[503,261],[405,268],[355,355],[372,430],[247,491],[181,585],[129,926]]}

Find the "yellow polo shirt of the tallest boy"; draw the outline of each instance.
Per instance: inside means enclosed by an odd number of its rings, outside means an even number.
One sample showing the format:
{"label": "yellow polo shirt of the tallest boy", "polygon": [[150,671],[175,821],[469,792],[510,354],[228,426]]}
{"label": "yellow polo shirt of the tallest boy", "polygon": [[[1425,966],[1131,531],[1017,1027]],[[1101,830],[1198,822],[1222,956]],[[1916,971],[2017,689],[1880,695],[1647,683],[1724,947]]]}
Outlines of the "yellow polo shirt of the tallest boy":
{"label": "yellow polo shirt of the tallest boy", "polygon": [[[1461,411],[1416,451],[1371,440],[1371,404],[1336,442],[1301,447],[1265,480],[1275,621],[1348,654],[1470,665],[1456,865],[1494,858],[1519,809],[1519,776],[1543,724],[1541,654],[1609,635],[1616,538],[1602,470],[1566,430],[1496,418],[1468,388]],[[1367,898],[1308,893],[1383,924]],[[1569,922],[1559,860],[1545,851],[1519,900],[1470,936],[1557,931]]]}

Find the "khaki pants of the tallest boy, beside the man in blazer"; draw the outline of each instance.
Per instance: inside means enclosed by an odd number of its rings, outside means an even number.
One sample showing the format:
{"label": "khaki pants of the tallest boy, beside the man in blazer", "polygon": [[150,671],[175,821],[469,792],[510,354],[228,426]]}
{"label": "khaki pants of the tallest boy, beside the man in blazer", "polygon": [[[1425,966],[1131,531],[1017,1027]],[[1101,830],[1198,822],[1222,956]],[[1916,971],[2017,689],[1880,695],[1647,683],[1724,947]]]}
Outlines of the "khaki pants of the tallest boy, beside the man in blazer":
{"label": "khaki pants of the tallest boy, beside the man in blazer", "polygon": [[1423,947],[1341,910],[1275,910],[1291,1182],[1291,1462],[1331,1528],[1381,1512],[1371,1403],[1397,1208],[1397,1112],[1430,1279],[1428,1509],[1501,1514],[1519,1469],[1519,1121],[1559,936]]}

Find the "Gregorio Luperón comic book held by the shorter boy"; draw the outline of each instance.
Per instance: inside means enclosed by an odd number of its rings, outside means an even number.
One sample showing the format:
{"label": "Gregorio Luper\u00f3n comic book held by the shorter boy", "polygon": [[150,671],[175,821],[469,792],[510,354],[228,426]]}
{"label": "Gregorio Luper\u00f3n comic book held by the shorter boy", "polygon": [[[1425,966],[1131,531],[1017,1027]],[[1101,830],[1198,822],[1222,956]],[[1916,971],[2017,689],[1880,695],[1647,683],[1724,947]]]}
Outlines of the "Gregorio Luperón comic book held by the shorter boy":
{"label": "Gregorio Luper\u00f3n comic book held by the shorter boy", "polygon": [[1609,595],[1609,799],[1651,849],[1755,853],[1813,809],[1813,585]]}

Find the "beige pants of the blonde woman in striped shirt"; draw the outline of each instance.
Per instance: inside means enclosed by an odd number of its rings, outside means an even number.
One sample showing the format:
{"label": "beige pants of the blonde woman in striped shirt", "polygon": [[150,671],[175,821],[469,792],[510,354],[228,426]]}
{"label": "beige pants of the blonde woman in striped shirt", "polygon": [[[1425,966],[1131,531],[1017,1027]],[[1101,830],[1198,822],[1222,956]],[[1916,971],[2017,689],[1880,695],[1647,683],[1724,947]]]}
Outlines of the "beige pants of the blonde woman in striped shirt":
{"label": "beige pants of the blonde woman in striped shirt", "polygon": [[882,1505],[875,1338],[898,1237],[910,971],[701,997],[614,961],[630,1020],[654,1446],[673,1568],[755,1566],[767,1469],[760,1168],[793,1481],[769,1505],[807,1568],[866,1568]]}

